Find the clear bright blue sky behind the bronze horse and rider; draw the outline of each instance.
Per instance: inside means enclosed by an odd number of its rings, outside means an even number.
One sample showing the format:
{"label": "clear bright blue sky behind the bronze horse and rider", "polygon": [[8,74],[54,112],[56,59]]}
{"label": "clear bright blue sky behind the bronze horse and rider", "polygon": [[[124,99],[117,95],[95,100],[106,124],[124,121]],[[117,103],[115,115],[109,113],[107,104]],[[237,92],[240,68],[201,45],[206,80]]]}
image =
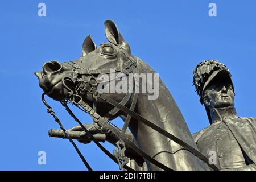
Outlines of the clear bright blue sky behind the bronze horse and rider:
{"label": "clear bright blue sky behind the bronze horse and rider", "polygon": [[[46,3],[46,17],[38,16],[40,2]],[[217,17],[208,16],[210,2],[217,4]],[[1,1],[0,169],[85,169],[68,140],[48,137],[48,130],[58,126],[42,104],[34,71],[49,60],[75,60],[88,34],[97,45],[105,42],[106,19],[117,23],[133,55],[159,73],[192,133],[209,125],[192,87],[192,71],[202,60],[217,59],[229,67],[238,115],[256,117],[255,8],[253,0]],[[65,127],[76,125],[58,102],[48,101]],[[93,143],[78,146],[93,169],[118,170]],[[38,164],[42,150],[46,165]]]}

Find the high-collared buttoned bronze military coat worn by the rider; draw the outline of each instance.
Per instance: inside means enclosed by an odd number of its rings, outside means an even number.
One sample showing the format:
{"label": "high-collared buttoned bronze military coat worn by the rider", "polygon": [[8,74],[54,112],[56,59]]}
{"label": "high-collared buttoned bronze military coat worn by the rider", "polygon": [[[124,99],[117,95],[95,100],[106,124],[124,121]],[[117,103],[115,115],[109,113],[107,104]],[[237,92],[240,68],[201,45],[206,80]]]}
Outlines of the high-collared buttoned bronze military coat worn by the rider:
{"label": "high-collared buttoned bronze military coat worn by the rider", "polygon": [[234,107],[224,109],[229,117],[221,118],[213,110],[213,124],[193,134],[199,151],[222,170],[256,170],[256,118],[237,117]]}

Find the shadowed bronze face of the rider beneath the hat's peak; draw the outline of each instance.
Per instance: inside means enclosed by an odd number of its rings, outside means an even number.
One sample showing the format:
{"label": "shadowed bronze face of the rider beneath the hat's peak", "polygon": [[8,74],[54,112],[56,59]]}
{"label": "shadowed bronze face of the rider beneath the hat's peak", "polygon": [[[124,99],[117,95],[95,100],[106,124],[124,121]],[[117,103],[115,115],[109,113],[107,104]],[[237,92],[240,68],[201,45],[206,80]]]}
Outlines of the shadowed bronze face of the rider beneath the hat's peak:
{"label": "shadowed bronze face of the rider beneath the hat's peak", "polygon": [[212,84],[205,89],[204,93],[207,92],[208,97],[205,97],[204,103],[209,109],[234,106],[232,85],[226,83]]}

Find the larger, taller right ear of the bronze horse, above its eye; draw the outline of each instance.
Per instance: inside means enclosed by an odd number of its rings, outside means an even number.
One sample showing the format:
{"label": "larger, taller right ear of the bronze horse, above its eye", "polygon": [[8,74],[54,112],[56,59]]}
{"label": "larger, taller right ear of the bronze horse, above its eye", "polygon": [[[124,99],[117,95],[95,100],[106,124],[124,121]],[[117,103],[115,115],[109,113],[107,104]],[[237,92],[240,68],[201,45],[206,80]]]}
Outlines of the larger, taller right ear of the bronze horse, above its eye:
{"label": "larger, taller right ear of the bronze horse, above its eye", "polygon": [[109,40],[109,42],[122,46],[129,54],[131,54],[130,46],[125,39],[123,39],[117,25],[112,20],[106,20],[104,24],[106,38]]}

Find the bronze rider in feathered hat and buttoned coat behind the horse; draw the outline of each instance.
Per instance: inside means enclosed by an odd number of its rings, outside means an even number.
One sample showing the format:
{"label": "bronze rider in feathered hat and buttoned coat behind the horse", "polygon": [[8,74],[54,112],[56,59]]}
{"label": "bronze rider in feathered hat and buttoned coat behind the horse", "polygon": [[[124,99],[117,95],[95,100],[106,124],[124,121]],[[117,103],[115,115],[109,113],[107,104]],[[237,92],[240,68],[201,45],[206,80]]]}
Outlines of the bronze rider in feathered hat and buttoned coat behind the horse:
{"label": "bronze rider in feathered hat and buttoned coat behind the horse", "polygon": [[210,122],[193,135],[199,151],[208,157],[215,152],[221,170],[256,170],[256,118],[237,117],[228,68],[216,60],[203,61],[193,77]]}

